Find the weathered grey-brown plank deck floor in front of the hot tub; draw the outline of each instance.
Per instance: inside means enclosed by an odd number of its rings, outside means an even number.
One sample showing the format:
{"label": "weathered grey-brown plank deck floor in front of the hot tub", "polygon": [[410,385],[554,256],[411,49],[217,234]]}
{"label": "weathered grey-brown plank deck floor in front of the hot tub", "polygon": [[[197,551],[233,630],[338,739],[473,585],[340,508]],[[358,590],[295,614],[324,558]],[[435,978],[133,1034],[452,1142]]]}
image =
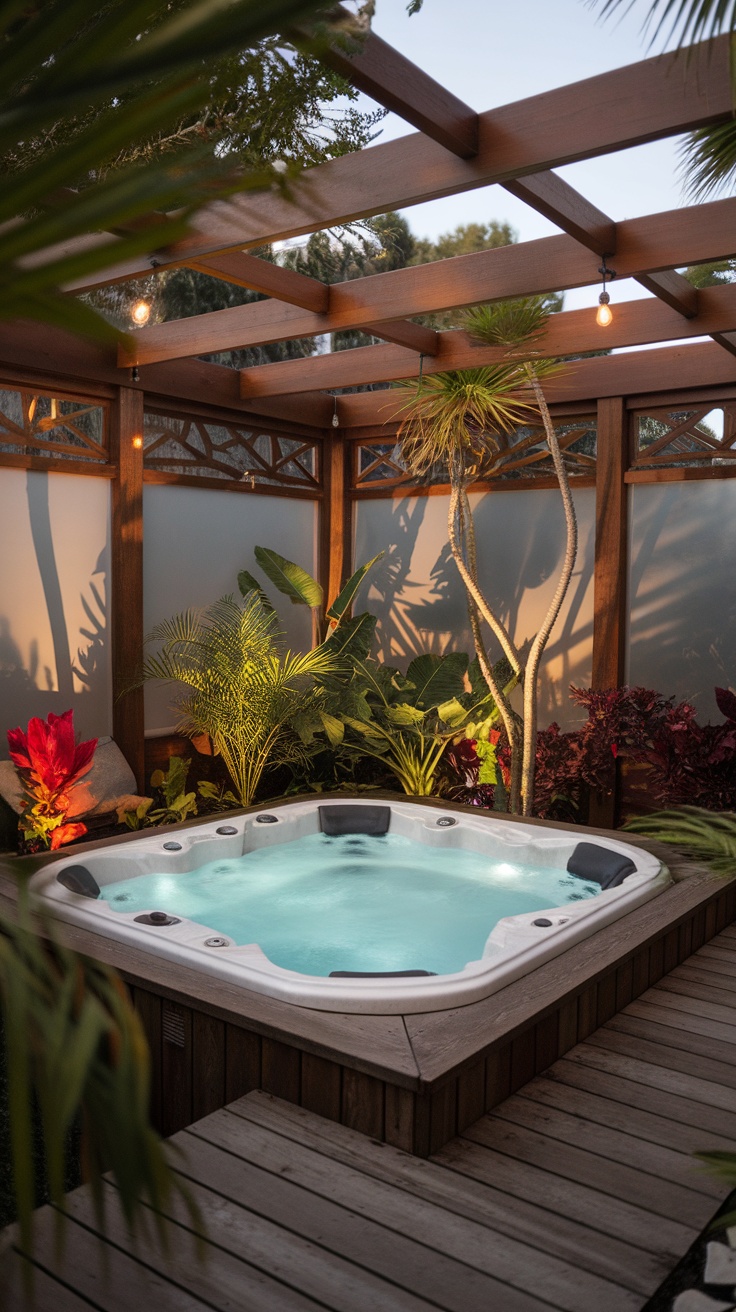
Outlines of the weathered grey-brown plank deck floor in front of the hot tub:
{"label": "weathered grey-brown plank deck floor in front of the hot tub", "polygon": [[135,1249],[112,1185],[101,1260],[81,1189],[62,1267],[38,1214],[41,1312],[638,1312],[726,1197],[691,1153],[736,1143],[736,929],[429,1161],[265,1093],[173,1141],[207,1261],[181,1215]]}

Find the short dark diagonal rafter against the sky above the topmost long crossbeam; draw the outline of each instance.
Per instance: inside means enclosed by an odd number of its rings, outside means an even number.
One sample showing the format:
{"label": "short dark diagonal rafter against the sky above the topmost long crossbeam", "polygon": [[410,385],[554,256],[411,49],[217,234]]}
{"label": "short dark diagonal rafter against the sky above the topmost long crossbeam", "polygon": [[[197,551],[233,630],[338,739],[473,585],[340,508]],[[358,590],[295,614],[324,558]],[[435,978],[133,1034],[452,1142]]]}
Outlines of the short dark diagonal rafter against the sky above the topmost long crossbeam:
{"label": "short dark diagonal rafter against the sky above the topmost long crossbeam", "polygon": [[[348,10],[342,10],[341,16],[350,20]],[[296,34],[310,38],[311,30],[302,26]],[[419,127],[445,150],[460,159],[478,154],[479,121],[475,110],[375,33],[371,31],[352,54],[341,46],[320,47],[317,54],[323,64],[341,73],[379,105],[394,110],[412,127]]]}

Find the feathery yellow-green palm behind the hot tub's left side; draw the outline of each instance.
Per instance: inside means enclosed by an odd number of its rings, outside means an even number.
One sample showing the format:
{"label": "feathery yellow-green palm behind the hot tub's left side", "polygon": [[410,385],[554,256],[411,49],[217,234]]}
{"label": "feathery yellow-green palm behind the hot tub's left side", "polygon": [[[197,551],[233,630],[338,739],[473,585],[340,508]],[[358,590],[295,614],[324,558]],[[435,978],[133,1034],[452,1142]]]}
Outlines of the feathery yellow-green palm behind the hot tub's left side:
{"label": "feathery yellow-green palm behind the hot tub's left side", "polygon": [[150,634],[159,649],[143,664],[143,678],[180,685],[173,706],[180,732],[207,733],[240,806],[251,806],[268,766],[306,760],[294,728],[298,716],[319,711],[316,684],[335,660],[327,646],[304,655],[279,653],[277,619],[260,596],[222,597],[206,610],[174,615]]}

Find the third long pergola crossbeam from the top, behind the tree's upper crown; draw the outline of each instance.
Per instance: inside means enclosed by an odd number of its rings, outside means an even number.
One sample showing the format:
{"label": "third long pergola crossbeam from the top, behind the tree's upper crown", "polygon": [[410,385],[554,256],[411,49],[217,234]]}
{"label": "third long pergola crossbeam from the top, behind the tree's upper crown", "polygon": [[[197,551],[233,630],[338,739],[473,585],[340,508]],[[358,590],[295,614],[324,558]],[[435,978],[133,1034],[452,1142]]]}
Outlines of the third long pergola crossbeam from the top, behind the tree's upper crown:
{"label": "third long pergola crossbeam from the top, behind the tree's upper crown", "polygon": [[[614,320],[606,329],[597,327],[593,306],[589,310],[551,315],[539,350],[550,356],[581,356],[601,346],[639,346],[677,337],[724,336],[728,332],[733,332],[736,337],[736,285],[703,289],[701,311],[695,319],[685,319],[670,306],[655,299],[618,303],[614,307]],[[425,374],[475,369],[509,358],[504,348],[480,346],[464,332],[437,333],[437,353],[424,362]],[[419,361],[413,353],[396,346],[362,346],[316,356],[310,361],[308,369],[304,369],[303,359],[244,369],[240,374],[240,395],[285,396],[387,383],[398,378],[416,378],[417,374]]]}

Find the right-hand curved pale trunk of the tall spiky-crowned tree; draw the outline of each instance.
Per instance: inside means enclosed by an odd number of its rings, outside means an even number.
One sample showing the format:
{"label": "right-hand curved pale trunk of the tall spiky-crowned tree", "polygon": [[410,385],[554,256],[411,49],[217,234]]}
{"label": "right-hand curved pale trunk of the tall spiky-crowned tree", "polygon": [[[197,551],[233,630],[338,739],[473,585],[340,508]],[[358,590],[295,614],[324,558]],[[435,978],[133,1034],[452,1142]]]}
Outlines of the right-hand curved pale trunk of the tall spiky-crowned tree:
{"label": "right-hand curved pale trunk of the tall spiky-crowned tree", "polygon": [[537,404],[539,407],[542,422],[544,425],[544,433],[547,436],[547,445],[550,447],[550,454],[552,457],[552,464],[555,466],[555,474],[558,475],[558,483],[563,499],[564,517],[567,525],[565,555],[560,579],[555,589],[555,596],[550,602],[547,614],[529,649],[529,656],[526,659],[525,677],[523,677],[523,761],[521,768],[521,794],[522,794],[523,815],[529,816],[531,815],[534,806],[534,771],[537,765],[537,677],[539,673],[539,661],[542,659],[542,653],[544,651],[544,647],[547,646],[547,639],[560,613],[560,607],[564,601],[567,589],[569,586],[569,580],[572,577],[572,571],[575,568],[575,560],[577,556],[577,520],[575,516],[575,505],[572,501],[572,493],[569,491],[569,480],[567,476],[567,470],[564,467],[564,461],[558,442],[558,434],[555,433],[555,429],[552,426],[552,420],[550,419],[550,411],[547,408],[547,401],[544,400],[544,394],[542,391],[534,367],[530,365],[527,365],[526,367],[527,367],[529,380],[531,383],[531,387],[534,388],[534,395],[537,398]]}

